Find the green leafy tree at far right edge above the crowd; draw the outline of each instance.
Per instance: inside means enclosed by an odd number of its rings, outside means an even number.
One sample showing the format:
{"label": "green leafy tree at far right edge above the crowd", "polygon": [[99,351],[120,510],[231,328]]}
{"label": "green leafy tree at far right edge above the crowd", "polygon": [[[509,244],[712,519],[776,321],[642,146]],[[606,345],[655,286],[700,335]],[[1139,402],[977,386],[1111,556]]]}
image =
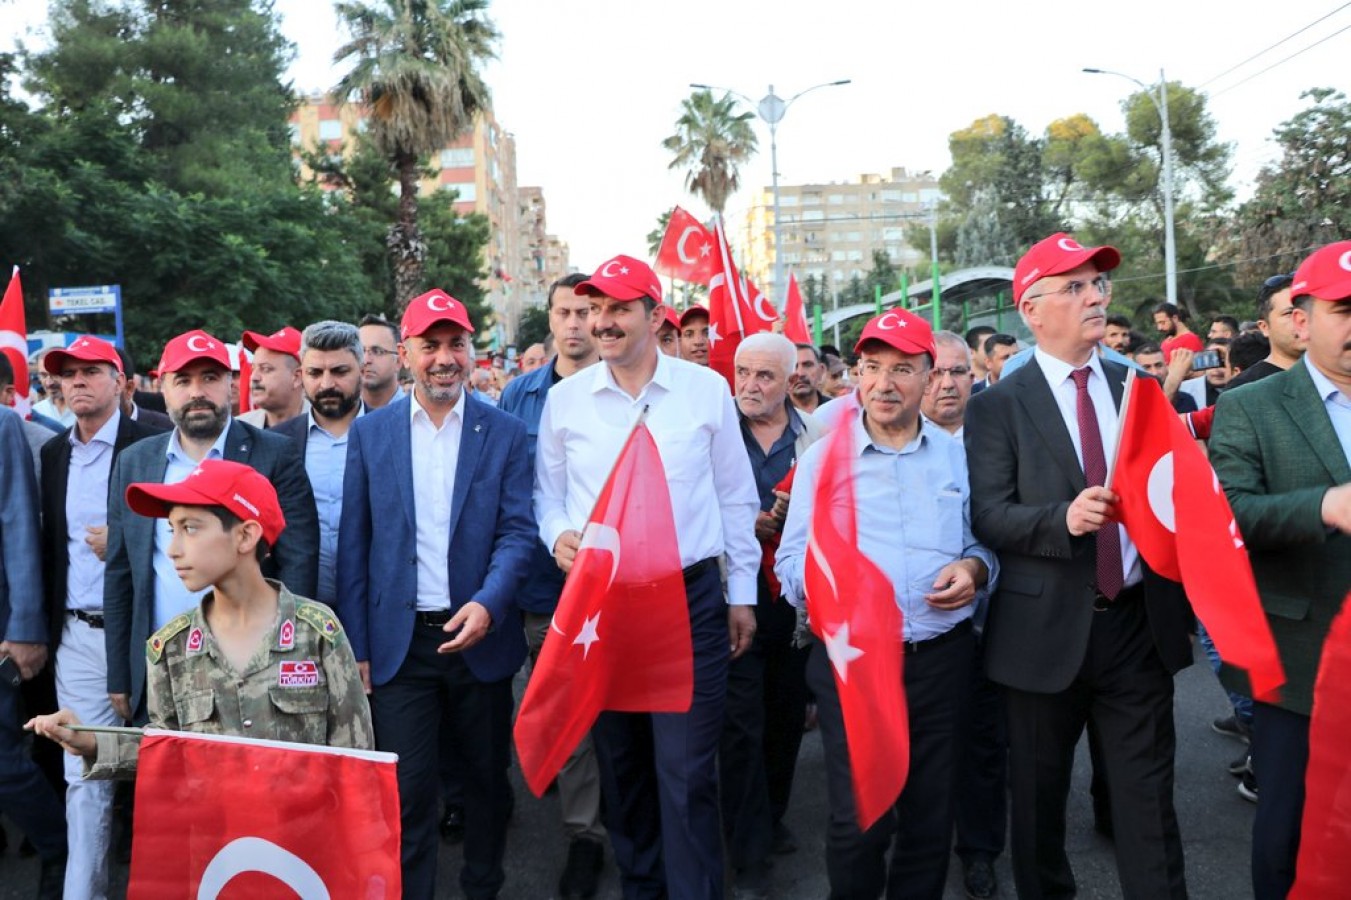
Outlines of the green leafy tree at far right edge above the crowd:
{"label": "green leafy tree at far right edge above the crowd", "polygon": [[[1265,166],[1227,231],[1243,284],[1293,272],[1310,250],[1351,235],[1351,101],[1315,88],[1308,105],[1277,126],[1281,157]],[[1251,262],[1248,262],[1251,261]]]}

